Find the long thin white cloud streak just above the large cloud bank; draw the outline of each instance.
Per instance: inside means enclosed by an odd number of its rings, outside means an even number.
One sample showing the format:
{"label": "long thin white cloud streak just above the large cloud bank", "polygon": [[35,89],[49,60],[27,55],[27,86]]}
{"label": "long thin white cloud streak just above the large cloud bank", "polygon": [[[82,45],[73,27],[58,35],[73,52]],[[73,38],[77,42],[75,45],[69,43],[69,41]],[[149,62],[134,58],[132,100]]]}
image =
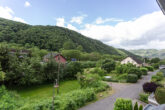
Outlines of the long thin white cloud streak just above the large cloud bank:
{"label": "long thin white cloud streak just above the large cloud bank", "polygon": [[122,19],[117,19],[117,18],[106,18],[106,19],[103,19],[102,17],[98,17],[95,21],[96,24],[103,24],[103,23],[106,23],[106,22],[122,22],[124,20]]}

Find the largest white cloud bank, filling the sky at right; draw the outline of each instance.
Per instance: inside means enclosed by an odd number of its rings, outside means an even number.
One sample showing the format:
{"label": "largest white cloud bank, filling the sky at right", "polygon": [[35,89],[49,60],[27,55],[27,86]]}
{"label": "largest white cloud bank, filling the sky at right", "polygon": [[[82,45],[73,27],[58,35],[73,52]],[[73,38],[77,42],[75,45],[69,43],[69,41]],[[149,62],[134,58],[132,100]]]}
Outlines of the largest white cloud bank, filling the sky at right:
{"label": "largest white cloud bank, filling the sky at right", "polygon": [[[102,23],[101,20],[97,24]],[[116,25],[86,24],[80,33],[119,48],[164,48],[165,16],[153,12]]]}

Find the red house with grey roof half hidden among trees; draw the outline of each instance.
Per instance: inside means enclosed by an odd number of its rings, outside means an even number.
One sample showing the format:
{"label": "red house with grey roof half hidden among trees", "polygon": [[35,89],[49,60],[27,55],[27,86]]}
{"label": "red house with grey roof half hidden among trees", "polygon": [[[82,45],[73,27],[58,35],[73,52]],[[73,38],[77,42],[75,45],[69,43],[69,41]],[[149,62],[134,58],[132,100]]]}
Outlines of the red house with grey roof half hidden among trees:
{"label": "red house with grey roof half hidden among trees", "polygon": [[51,57],[56,61],[56,62],[60,62],[65,64],[66,63],[66,59],[64,56],[62,56],[59,53],[48,53],[47,55],[44,56],[43,61],[44,62],[48,62]]}

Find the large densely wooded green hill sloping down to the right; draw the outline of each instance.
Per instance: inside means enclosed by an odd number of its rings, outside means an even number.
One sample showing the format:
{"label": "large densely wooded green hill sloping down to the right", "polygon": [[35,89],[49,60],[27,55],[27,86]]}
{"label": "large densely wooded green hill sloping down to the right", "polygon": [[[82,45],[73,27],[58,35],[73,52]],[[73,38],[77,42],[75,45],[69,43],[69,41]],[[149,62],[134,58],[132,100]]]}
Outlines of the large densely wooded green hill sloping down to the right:
{"label": "large densely wooded green hill sloping down to the right", "polygon": [[37,46],[40,49],[59,51],[65,42],[82,46],[85,52],[99,52],[127,56],[127,53],[88,38],[78,32],[58,26],[32,26],[0,18],[0,42]]}

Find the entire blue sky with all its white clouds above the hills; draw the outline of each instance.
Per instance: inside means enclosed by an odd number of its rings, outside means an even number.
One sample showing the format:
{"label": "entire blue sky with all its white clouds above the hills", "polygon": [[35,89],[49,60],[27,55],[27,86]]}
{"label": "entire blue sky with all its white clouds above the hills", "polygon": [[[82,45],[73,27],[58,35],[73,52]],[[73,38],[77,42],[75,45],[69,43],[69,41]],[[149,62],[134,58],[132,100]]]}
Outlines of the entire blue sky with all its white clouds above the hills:
{"label": "entire blue sky with all its white clouds above the hills", "polygon": [[0,0],[0,17],[56,25],[124,49],[165,49],[156,0]]}

